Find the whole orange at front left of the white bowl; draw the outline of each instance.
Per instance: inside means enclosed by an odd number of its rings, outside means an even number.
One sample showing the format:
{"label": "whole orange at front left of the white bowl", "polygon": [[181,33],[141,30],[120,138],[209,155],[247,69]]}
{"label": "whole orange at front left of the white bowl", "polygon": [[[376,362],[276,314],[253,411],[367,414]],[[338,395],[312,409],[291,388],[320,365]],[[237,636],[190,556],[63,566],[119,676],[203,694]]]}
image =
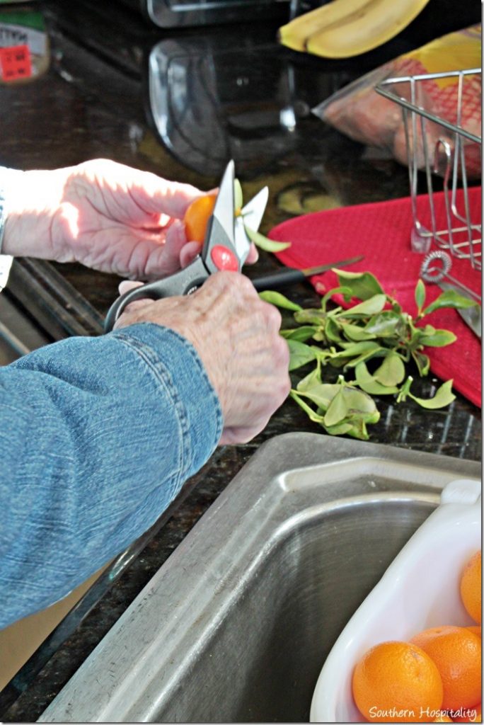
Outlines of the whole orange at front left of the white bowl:
{"label": "whole orange at front left of the white bowl", "polygon": [[409,642],[382,642],[368,650],[356,663],[352,688],[356,706],[370,722],[428,722],[429,713],[442,705],[435,663]]}

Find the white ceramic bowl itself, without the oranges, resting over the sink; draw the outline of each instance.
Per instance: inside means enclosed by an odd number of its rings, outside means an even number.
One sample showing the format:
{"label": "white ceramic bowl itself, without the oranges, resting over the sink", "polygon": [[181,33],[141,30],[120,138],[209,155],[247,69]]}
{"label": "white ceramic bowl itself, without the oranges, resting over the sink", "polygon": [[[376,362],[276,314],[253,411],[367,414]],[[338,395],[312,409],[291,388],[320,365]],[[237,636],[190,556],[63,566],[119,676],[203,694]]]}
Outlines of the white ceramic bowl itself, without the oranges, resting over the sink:
{"label": "white ceramic bowl itself, without the oranges, resting over the sink", "polygon": [[460,600],[459,576],[480,547],[480,483],[451,481],[336,640],[314,689],[312,722],[362,722],[351,678],[373,645],[405,641],[433,626],[475,624]]}

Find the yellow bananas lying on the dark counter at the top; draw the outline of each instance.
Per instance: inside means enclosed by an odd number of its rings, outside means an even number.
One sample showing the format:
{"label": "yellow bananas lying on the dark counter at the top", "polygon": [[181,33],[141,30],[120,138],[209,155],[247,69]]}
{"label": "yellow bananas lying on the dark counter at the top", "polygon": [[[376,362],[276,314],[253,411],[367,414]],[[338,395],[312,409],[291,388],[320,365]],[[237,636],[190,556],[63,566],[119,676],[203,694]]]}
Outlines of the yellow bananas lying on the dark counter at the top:
{"label": "yellow bananas lying on the dark counter at the top", "polygon": [[325,58],[349,58],[389,41],[428,2],[333,0],[280,28],[280,42],[293,50],[305,50]]}

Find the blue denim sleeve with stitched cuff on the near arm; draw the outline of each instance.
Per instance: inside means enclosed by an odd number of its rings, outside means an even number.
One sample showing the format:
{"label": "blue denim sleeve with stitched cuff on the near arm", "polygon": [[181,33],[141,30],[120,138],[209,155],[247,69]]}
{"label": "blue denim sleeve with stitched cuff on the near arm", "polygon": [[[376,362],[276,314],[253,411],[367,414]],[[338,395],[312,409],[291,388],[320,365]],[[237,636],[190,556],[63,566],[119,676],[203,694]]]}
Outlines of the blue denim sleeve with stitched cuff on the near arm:
{"label": "blue denim sleeve with stitched cuff on the near arm", "polygon": [[0,628],[146,531],[221,433],[195,349],[151,323],[0,368]]}

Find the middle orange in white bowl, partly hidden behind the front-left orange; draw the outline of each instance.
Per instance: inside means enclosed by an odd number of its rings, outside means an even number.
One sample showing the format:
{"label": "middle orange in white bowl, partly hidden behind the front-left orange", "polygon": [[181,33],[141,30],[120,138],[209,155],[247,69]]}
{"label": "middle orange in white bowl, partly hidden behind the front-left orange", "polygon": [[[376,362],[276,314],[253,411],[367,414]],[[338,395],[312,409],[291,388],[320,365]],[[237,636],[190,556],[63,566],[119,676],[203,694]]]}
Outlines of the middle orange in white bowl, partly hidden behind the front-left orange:
{"label": "middle orange in white bowl, partly hidden behind the front-left orange", "polygon": [[442,626],[410,640],[435,662],[443,684],[443,710],[480,702],[480,639],[466,627]]}

